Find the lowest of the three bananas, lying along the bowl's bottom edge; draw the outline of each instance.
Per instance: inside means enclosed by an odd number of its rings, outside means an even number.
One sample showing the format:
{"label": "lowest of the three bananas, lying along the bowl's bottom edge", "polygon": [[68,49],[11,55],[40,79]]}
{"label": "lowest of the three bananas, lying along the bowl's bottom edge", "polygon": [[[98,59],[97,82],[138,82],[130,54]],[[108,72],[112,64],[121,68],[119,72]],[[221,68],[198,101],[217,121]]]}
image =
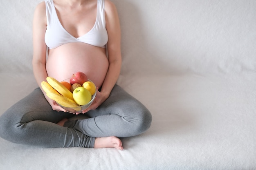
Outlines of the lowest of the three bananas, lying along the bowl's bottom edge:
{"label": "lowest of the three bananas, lying along the bowl's bottom edge", "polygon": [[60,104],[61,106],[64,107],[68,107],[68,108],[75,108],[75,107],[79,107],[80,105],[76,104],[76,102],[74,100],[71,100],[61,94],[57,94],[57,93],[46,93],[46,95],[50,98],[55,100],[58,104]]}

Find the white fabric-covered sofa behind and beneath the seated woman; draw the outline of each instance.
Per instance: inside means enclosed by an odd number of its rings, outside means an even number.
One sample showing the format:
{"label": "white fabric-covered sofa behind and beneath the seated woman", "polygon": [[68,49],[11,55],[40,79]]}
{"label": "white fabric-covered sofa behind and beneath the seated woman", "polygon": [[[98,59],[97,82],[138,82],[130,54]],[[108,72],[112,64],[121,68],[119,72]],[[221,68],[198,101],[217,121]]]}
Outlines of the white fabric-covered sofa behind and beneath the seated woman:
{"label": "white fabric-covered sofa behind and beneath the seated woman", "polygon": [[[32,18],[40,0],[0,5],[0,115],[37,84]],[[38,148],[0,138],[1,170],[255,170],[256,1],[113,0],[118,84],[153,115],[112,148]]]}

